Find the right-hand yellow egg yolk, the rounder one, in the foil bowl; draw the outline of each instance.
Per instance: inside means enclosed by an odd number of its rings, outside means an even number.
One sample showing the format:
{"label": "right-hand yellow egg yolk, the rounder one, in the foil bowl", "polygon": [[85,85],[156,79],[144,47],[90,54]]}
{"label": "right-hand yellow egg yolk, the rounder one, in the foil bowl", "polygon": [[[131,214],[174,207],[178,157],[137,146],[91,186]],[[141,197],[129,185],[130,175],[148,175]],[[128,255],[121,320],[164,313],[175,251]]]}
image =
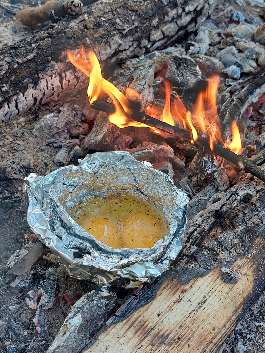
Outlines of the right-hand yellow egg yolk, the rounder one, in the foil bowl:
{"label": "right-hand yellow egg yolk, the rounder one, in the foil bowl", "polygon": [[164,237],[164,225],[159,217],[146,213],[130,214],[123,222],[124,245],[128,248],[152,247]]}

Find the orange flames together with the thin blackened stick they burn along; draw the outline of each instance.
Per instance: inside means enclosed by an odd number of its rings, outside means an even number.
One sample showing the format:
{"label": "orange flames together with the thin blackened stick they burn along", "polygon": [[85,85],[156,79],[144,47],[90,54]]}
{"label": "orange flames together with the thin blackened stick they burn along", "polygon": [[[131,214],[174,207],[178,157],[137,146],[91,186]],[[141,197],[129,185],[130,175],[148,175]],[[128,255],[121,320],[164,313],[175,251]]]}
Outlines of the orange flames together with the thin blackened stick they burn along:
{"label": "orange flames together with the thin blackened stick they burn along", "polygon": [[[235,121],[231,123],[231,141],[223,141],[221,131],[224,131],[225,126],[221,126],[216,106],[216,94],[219,86],[219,78],[217,75],[211,76],[208,80],[206,90],[198,94],[192,113],[186,110],[181,98],[177,94],[173,96],[171,102],[170,83],[164,79],[165,104],[163,109],[159,111],[155,106],[147,106],[146,114],[143,114],[143,116],[140,114],[141,117],[139,117],[140,112],[135,112],[135,109],[132,107],[137,105],[138,108],[140,107],[140,94],[131,88],[126,88],[124,95],[112,83],[104,79],[101,74],[100,63],[93,51],[88,53],[88,59],[86,58],[84,47],[80,48],[80,53],[77,57],[75,57],[74,53],[70,50],[67,51],[67,56],[74,66],[89,77],[87,94],[92,107],[106,113],[112,112],[112,110],[114,110],[113,108],[115,108],[115,112],[108,116],[111,123],[119,128],[128,126],[152,126],[150,131],[155,134],[164,136],[162,131],[167,131],[185,137],[187,134],[185,131],[181,133],[181,128],[171,130],[169,127],[169,130],[167,130],[167,125],[174,127],[182,126],[186,130],[187,128],[189,129],[190,142],[194,144],[198,141],[198,144],[203,147],[206,147],[206,141],[201,138],[201,135],[205,134],[208,136],[209,148],[213,154],[216,153],[226,158],[241,169],[245,169],[247,172],[265,181],[265,173],[256,167],[255,162],[257,159],[249,162],[247,158],[237,158],[233,154],[225,153],[220,146],[216,145],[217,142],[220,142],[224,148],[234,151],[235,154],[239,154],[242,150],[240,132]],[[102,95],[107,95],[114,102],[114,107],[109,104],[97,102],[97,99]],[[152,117],[148,116],[149,114],[151,114]],[[135,121],[137,120],[137,115],[138,121]],[[148,116],[148,118],[146,116]],[[156,123],[153,118],[162,121],[164,124]],[[198,131],[200,131],[200,135],[198,135]],[[198,139],[199,136],[200,138]],[[262,158],[262,156],[260,158]]]}

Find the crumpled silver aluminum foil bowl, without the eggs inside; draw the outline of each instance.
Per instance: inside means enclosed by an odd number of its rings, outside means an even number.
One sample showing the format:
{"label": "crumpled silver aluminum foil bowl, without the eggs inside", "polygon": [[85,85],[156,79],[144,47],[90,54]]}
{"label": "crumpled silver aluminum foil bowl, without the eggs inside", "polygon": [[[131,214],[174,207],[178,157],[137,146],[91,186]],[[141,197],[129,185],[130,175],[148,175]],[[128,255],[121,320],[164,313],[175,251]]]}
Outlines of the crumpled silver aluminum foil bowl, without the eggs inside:
{"label": "crumpled silver aluminum foil bowl, without the eggs inside", "polygon": [[[181,250],[188,197],[168,175],[128,152],[96,152],[78,166],[26,178],[28,223],[58,257],[69,275],[103,286],[128,287],[151,282],[170,267]],[[162,211],[168,233],[148,249],[114,249],[101,243],[70,216],[80,202],[93,197],[132,196],[148,199]]]}

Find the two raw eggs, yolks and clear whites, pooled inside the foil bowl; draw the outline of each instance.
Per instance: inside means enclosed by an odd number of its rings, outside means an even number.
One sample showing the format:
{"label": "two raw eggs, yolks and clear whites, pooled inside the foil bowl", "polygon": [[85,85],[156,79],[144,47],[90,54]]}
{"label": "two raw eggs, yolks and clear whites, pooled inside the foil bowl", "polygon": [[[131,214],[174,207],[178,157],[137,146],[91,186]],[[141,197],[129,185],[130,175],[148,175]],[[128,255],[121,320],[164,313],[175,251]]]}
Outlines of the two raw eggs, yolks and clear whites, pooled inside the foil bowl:
{"label": "two raw eggs, yolks and clear whites, pooled inside the foil bowl", "polygon": [[97,240],[118,248],[149,248],[165,236],[161,213],[150,203],[95,197],[79,205],[76,222]]}

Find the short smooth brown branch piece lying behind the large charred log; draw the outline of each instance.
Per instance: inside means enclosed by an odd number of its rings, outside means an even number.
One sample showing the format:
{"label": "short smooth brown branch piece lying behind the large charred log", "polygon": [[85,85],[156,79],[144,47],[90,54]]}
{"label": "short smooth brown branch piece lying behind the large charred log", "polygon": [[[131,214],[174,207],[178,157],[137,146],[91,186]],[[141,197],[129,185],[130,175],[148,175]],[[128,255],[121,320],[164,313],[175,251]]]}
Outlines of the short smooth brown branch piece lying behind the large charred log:
{"label": "short smooth brown branch piece lying behind the large charred log", "polygon": [[16,13],[16,18],[25,25],[36,25],[49,20],[56,23],[67,15],[76,15],[82,8],[83,2],[79,0],[50,0],[42,6],[24,8]]}

